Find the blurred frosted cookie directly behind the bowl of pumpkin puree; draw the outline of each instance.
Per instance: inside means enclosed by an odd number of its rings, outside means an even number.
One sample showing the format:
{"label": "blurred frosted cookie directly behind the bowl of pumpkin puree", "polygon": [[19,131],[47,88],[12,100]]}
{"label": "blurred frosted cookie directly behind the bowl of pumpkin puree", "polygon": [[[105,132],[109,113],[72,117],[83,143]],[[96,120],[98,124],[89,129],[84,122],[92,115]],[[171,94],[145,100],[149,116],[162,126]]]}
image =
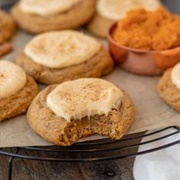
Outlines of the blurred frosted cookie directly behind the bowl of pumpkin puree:
{"label": "blurred frosted cookie directly behind the bowl of pumpkin puree", "polygon": [[87,28],[95,35],[105,38],[110,26],[124,18],[128,11],[139,8],[154,10],[159,6],[158,0],[97,0],[96,14],[88,23]]}

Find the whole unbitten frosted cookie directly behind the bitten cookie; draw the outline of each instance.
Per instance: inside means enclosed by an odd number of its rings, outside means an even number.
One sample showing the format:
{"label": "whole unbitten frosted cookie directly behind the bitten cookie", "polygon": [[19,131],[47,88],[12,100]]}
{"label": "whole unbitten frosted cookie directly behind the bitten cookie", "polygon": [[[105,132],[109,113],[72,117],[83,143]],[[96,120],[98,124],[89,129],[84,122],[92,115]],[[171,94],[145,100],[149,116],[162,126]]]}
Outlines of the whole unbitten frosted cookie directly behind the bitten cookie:
{"label": "whole unbitten frosted cookie directly behind the bitten cookie", "polygon": [[16,63],[44,84],[101,77],[113,70],[112,58],[98,41],[72,30],[37,35],[16,57]]}

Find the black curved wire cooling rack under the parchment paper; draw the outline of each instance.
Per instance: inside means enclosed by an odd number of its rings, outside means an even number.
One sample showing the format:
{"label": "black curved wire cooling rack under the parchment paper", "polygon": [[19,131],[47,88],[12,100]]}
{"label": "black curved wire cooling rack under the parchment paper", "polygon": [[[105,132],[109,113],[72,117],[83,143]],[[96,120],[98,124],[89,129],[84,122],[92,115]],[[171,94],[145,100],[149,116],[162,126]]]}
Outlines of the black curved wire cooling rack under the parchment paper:
{"label": "black curved wire cooling rack under the parchment paper", "polygon": [[[169,131],[172,129],[172,131]],[[163,132],[163,133],[162,133]],[[161,133],[161,136],[157,136]],[[160,146],[137,151],[138,147],[145,146],[163,140],[180,133],[180,127],[170,126],[150,133],[138,133],[126,135],[118,141],[101,139],[76,143],[69,147],[41,146],[41,147],[16,147],[0,148],[0,155],[9,156],[8,180],[11,180],[14,158],[38,160],[38,161],[59,161],[59,162],[92,162],[122,159],[151,153],[180,143],[180,138],[173,142],[161,144]],[[141,139],[148,137],[148,140],[141,142]],[[27,155],[28,152],[28,155]],[[37,152],[38,155],[37,155]]]}

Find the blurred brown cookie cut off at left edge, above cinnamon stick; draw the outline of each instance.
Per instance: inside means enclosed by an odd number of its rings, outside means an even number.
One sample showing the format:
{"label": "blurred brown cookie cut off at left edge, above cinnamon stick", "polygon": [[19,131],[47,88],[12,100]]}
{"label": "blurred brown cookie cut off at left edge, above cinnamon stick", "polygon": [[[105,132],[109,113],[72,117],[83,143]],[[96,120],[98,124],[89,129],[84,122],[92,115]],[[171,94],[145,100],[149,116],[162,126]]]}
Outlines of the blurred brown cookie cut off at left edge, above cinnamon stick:
{"label": "blurred brown cookie cut off at left edge, above cinnamon stick", "polygon": [[13,18],[0,10],[0,44],[8,41],[16,31],[16,24]]}

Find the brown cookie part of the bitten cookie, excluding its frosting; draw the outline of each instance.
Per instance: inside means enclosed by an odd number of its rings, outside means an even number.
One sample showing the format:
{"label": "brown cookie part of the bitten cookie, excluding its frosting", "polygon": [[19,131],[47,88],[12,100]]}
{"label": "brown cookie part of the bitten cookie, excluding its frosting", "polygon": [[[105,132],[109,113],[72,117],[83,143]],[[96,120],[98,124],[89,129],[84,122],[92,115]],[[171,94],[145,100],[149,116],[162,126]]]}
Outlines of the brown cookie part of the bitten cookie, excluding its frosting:
{"label": "brown cookie part of the bitten cookie, excluding its frosting", "polygon": [[119,108],[106,115],[86,116],[70,122],[56,116],[46,104],[48,94],[56,85],[48,86],[33,100],[27,112],[32,129],[41,137],[56,145],[69,146],[82,137],[92,134],[107,135],[112,139],[121,138],[134,118],[134,106],[128,95],[124,96]]}

